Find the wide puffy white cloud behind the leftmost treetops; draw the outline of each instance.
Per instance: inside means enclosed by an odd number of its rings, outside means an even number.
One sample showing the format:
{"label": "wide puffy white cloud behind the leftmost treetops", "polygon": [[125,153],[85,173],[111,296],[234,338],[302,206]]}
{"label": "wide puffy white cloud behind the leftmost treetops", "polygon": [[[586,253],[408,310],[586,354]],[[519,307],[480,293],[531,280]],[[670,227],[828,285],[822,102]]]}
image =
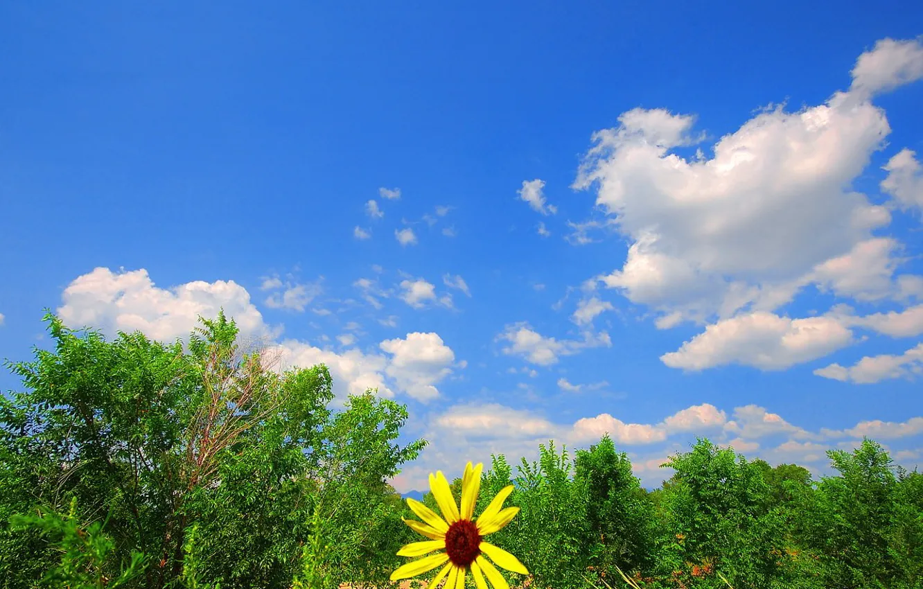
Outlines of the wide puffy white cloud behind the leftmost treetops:
{"label": "wide puffy white cloud behind the leftmost treetops", "polygon": [[159,341],[186,338],[198,317],[214,319],[223,308],[245,338],[271,336],[246,289],[234,281],[186,282],[169,289],[154,285],[148,270],[115,273],[97,268],[67,285],[57,314],[72,328],[92,327],[110,335],[142,331]]}

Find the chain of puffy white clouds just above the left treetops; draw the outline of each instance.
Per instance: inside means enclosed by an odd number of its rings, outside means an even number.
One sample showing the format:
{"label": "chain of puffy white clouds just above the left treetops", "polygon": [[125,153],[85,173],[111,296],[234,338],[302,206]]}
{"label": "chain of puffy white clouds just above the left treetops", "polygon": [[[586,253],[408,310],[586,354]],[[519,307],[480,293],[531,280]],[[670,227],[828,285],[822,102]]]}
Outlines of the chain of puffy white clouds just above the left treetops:
{"label": "chain of puffy white clouds just above the left treetops", "polygon": [[[359,282],[367,290],[374,287],[368,279]],[[278,277],[262,283],[268,290],[284,285]],[[162,289],[150,280],[147,270],[116,273],[97,268],[71,282],[62,297],[63,305],[57,313],[68,326],[91,326],[110,335],[116,331],[142,331],[159,341],[188,336],[200,316],[214,318],[223,308],[236,321],[243,337],[267,343],[264,353],[280,369],[326,364],[338,403],[347,394],[367,389],[378,389],[379,394],[388,397],[397,391],[428,401],[438,396],[437,385],[462,367],[462,363],[455,362],[450,347],[432,332],[412,332],[404,338],[385,340],[378,344],[378,352],[363,352],[355,347],[334,352],[293,339],[271,343],[279,331],[270,330],[246,289],[235,282],[198,281]],[[346,325],[353,331],[358,327],[354,322]],[[352,333],[338,339],[344,347],[355,342]]]}

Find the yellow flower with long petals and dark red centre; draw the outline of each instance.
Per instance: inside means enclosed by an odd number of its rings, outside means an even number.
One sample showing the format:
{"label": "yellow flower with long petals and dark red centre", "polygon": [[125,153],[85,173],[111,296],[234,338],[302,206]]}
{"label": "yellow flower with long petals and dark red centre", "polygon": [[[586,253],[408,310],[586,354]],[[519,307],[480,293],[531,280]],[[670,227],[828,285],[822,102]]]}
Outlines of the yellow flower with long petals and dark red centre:
{"label": "yellow flower with long petals and dark red centre", "polygon": [[[474,503],[477,502],[477,493],[481,488],[481,471],[484,464],[472,467],[468,463],[462,476],[462,509],[455,504],[449,481],[442,471],[436,475],[429,475],[429,488],[439,506],[439,511],[445,517],[443,520],[435,511],[430,510],[423,503],[414,499],[407,499],[407,505],[423,522],[416,520],[403,520],[414,532],[424,535],[429,540],[414,542],[402,547],[398,552],[399,557],[421,557],[435,550],[445,550],[430,554],[426,558],[414,560],[402,565],[391,573],[391,581],[410,579],[418,574],[445,565],[436,577],[429,583],[435,589],[436,585],[446,579],[445,589],[464,589],[464,578],[467,571],[471,571],[477,589],[487,589],[484,577],[495,589],[509,589],[509,583],[497,568],[485,559],[490,557],[498,567],[507,571],[529,574],[522,563],[509,554],[506,550],[487,544],[481,538],[493,534],[509,523],[519,513],[518,507],[503,507],[503,501],[509,497],[513,486],[504,487],[497,497],[490,502],[487,509],[475,521]],[[448,576],[448,578],[447,578]]]}

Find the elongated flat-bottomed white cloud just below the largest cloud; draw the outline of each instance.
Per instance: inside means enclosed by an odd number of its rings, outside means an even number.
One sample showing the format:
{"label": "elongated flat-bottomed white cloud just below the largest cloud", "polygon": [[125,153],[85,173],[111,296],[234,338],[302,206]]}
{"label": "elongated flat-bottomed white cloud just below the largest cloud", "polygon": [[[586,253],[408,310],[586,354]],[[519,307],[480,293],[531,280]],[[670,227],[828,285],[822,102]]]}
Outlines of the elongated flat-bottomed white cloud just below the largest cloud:
{"label": "elongated flat-bottomed white cloud just below the largest cloud", "polygon": [[756,312],[709,325],[676,352],[660,359],[668,367],[688,370],[729,364],[782,370],[850,343],[852,332],[833,317],[788,319]]}

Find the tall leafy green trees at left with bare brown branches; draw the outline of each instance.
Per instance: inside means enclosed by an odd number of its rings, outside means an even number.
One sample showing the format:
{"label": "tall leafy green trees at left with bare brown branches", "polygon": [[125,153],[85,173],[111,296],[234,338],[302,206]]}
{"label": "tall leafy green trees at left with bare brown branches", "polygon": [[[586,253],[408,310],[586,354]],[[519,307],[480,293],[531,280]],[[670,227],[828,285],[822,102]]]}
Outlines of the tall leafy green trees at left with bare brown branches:
{"label": "tall leafy green trees at left with bare brown branches", "polygon": [[[75,521],[108,514],[103,574],[117,578],[138,552],[150,566],[135,583],[150,589],[189,583],[192,545],[197,583],[288,587],[318,517],[335,523],[322,532],[338,547],[321,563],[333,577],[399,562],[407,536],[395,533],[400,514],[384,481],[425,443],[394,443],[401,405],[366,393],[331,414],[326,367],[273,370],[265,351],[239,348],[223,314],[203,319],[186,346],[137,332],[106,342],[45,319],[54,350],[10,364],[26,391],[0,401],[6,520],[77,499]],[[6,520],[0,578],[4,589],[30,587],[57,557],[39,531],[14,532]]]}

